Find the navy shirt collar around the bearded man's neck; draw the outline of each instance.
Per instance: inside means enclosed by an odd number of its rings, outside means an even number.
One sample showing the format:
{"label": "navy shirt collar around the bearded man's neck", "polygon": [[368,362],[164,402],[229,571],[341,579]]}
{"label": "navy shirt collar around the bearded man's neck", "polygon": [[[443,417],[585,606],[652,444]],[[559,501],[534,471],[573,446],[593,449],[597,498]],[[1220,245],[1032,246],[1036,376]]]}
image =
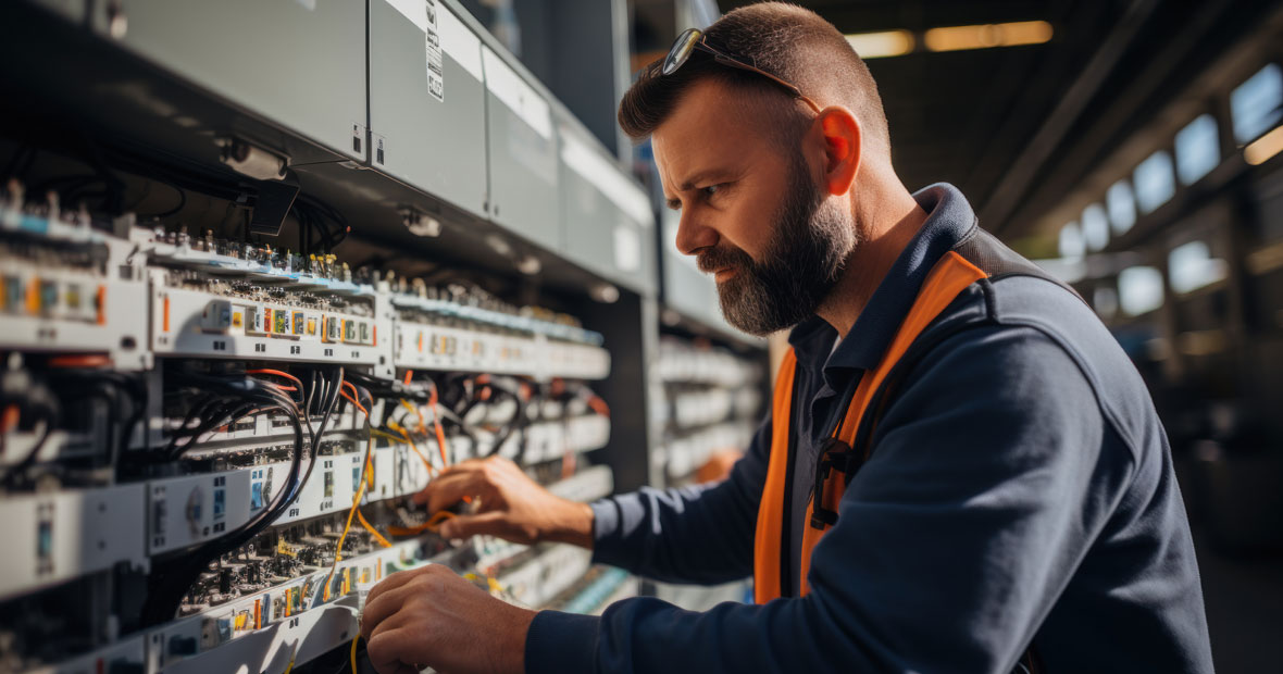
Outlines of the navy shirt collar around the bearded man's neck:
{"label": "navy shirt collar around the bearded man's neck", "polygon": [[839,368],[871,370],[878,365],[931,267],[976,227],[971,204],[953,185],[937,182],[913,193],[913,199],[926,211],[926,221],[878,284],[842,344],[829,353],[838,331],[819,316],[802,321],[789,334],[798,362],[824,363],[830,386],[839,377]]}

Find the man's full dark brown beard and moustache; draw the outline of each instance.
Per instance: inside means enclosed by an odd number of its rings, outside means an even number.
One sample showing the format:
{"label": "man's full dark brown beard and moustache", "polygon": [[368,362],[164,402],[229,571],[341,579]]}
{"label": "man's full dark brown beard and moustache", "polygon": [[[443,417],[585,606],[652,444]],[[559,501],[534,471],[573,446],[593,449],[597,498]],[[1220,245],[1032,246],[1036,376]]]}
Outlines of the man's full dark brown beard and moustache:
{"label": "man's full dark brown beard and moustache", "polygon": [[851,214],[811,182],[801,154],[789,167],[788,193],[771,220],[762,262],[729,245],[709,248],[698,258],[706,273],[735,271],[717,284],[717,297],[726,322],[752,335],[792,327],[813,315],[858,244]]}

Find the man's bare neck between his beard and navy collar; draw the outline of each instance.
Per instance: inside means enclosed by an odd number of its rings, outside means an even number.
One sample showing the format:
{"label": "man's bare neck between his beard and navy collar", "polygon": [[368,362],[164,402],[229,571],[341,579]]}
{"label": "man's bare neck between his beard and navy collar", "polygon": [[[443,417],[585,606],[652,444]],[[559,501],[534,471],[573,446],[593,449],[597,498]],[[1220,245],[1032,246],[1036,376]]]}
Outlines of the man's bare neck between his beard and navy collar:
{"label": "man's bare neck between his beard and navy collar", "polygon": [[926,222],[926,212],[913,196],[896,185],[898,194],[872,212],[858,213],[865,222],[863,239],[847,258],[845,270],[816,315],[831,325],[839,338],[845,338],[856,318],[865,311],[878,285],[890,271],[908,241]]}

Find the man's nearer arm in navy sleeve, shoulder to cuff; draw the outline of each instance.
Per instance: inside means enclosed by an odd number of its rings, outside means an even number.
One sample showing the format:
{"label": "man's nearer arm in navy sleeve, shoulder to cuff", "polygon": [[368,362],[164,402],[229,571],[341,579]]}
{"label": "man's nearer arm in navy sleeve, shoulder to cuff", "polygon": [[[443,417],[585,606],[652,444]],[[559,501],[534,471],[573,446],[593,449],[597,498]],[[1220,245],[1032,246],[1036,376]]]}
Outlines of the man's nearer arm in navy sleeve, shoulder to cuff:
{"label": "man's nearer arm in navy sleeve, shoulder to cuff", "polygon": [[698,614],[543,611],[527,671],[1008,671],[1133,470],[1092,386],[1028,329],[940,347],[881,420],[810,593]]}

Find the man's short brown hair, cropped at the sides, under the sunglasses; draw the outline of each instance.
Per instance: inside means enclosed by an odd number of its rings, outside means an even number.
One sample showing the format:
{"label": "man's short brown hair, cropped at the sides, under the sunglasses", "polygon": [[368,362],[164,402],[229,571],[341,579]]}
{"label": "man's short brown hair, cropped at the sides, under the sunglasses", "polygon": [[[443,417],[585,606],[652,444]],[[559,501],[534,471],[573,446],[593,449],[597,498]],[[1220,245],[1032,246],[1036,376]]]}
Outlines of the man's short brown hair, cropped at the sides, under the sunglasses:
{"label": "man's short brown hair, cropped at the sides, under the sunglasses", "polygon": [[[727,13],[704,31],[709,46],[793,83],[820,105],[840,104],[860,121],[863,143],[890,157],[890,135],[878,85],[847,39],[822,17],[786,3],[761,3]],[[761,74],[718,64],[695,51],[677,72],[662,74],[663,59],[642,69],[620,101],[620,127],[634,141],[649,137],[672,114],[693,83],[715,80],[761,95],[789,92]],[[781,110],[785,108],[780,107]],[[811,118],[799,108],[785,122],[798,137]],[[795,131],[795,134],[790,132]]]}

